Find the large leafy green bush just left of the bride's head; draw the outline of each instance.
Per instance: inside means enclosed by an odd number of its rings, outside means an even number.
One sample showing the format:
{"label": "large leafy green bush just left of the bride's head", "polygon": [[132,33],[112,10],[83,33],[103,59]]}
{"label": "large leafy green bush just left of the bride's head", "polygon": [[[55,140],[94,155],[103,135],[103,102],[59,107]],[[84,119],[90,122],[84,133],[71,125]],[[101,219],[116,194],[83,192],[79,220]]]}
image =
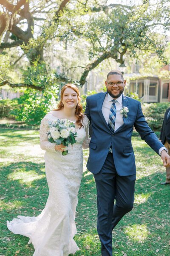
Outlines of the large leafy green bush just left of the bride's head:
{"label": "large leafy green bush just left of the bride's head", "polygon": [[26,89],[24,94],[17,99],[11,113],[17,121],[29,125],[39,125],[41,119],[49,112],[56,102],[58,86],[51,86],[43,92]]}

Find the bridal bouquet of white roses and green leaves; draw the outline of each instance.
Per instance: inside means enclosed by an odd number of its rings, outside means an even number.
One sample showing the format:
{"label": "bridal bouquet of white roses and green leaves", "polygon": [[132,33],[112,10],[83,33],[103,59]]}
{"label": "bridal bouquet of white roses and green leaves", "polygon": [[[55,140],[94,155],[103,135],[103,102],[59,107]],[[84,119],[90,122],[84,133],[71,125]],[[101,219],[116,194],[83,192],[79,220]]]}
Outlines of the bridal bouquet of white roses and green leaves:
{"label": "bridal bouquet of white roses and green leaves", "polygon": [[[48,121],[49,130],[47,132],[48,141],[56,143],[57,145],[63,144],[68,147],[68,144],[74,144],[77,136],[75,124],[68,119],[56,119]],[[68,155],[68,150],[62,151],[62,155]]]}

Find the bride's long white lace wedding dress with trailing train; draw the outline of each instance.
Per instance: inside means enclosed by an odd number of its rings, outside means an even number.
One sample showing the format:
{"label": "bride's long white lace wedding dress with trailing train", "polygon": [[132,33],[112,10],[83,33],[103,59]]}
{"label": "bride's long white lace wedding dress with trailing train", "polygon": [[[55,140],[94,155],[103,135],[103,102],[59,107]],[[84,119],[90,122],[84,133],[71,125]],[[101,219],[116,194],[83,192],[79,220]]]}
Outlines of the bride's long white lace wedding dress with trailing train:
{"label": "bride's long white lace wedding dress with trailing train", "polygon": [[84,116],[81,129],[77,129],[77,142],[68,146],[68,155],[55,151],[55,144],[47,140],[47,114],[40,125],[40,146],[45,150],[45,172],[49,196],[45,208],[37,217],[17,216],[7,221],[11,232],[28,236],[34,245],[33,256],[68,256],[79,250],[74,235],[77,233],[75,213],[77,194],[82,178],[83,148],[88,148],[88,118]]}

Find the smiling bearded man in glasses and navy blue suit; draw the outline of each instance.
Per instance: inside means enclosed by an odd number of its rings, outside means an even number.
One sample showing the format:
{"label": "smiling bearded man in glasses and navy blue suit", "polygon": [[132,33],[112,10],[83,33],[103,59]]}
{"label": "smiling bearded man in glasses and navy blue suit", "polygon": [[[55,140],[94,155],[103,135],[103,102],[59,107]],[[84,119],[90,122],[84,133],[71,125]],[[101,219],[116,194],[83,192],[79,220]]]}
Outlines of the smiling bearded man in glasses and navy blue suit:
{"label": "smiling bearded man in glasses and navy blue suit", "polygon": [[167,149],[148,127],[140,102],[122,94],[125,85],[122,73],[112,70],[105,81],[107,92],[87,97],[85,110],[92,127],[87,168],[96,181],[97,231],[102,256],[112,256],[112,230],[133,208],[136,180],[131,144],[133,126],[142,140],[161,155],[164,166],[170,166]]}

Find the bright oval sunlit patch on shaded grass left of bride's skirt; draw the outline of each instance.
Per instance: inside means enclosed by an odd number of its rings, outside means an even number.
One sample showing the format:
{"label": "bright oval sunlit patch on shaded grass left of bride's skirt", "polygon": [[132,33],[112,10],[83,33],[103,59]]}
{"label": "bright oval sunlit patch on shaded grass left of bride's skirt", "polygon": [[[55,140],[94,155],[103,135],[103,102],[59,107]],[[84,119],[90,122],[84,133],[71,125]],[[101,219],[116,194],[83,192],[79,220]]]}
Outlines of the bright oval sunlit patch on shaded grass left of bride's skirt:
{"label": "bright oval sunlit patch on shaded grass left of bride's skirt", "polygon": [[34,171],[14,172],[8,175],[8,179],[18,180],[20,184],[27,184],[27,185],[28,184],[30,185],[32,181],[40,180],[41,178],[44,178],[44,177],[45,177],[45,174],[38,175]]}

